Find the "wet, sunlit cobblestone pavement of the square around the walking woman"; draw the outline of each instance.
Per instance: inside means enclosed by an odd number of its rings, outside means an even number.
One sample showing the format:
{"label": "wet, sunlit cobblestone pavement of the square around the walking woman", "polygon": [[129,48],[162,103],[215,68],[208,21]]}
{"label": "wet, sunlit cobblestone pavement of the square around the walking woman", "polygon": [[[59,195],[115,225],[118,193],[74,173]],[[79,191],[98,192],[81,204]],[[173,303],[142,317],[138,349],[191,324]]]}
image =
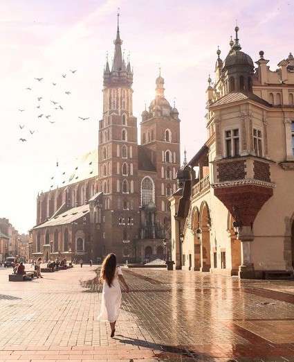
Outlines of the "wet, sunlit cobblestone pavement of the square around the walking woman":
{"label": "wet, sunlit cobblestone pavement of the square around the walking woman", "polygon": [[96,268],[31,282],[0,268],[0,361],[294,361],[293,281],[125,268],[110,338]]}

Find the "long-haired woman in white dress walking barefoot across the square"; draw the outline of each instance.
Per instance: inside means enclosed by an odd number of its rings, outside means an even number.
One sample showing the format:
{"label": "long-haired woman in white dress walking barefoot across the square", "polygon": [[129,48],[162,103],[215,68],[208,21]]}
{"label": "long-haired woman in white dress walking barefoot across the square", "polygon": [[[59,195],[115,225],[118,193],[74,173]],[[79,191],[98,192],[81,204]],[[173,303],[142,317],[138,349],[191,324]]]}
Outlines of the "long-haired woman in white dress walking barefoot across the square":
{"label": "long-haired woman in white dress walking barefoot across the square", "polygon": [[98,319],[102,322],[107,320],[111,327],[111,337],[114,336],[116,331],[116,320],[120,314],[120,302],[122,300],[122,291],[120,290],[120,284],[124,284],[127,293],[129,293],[129,286],[125,282],[125,278],[122,276],[122,270],[117,266],[116,255],[112,252],[104,259],[100,280],[103,282],[102,300],[101,300],[101,313]]}

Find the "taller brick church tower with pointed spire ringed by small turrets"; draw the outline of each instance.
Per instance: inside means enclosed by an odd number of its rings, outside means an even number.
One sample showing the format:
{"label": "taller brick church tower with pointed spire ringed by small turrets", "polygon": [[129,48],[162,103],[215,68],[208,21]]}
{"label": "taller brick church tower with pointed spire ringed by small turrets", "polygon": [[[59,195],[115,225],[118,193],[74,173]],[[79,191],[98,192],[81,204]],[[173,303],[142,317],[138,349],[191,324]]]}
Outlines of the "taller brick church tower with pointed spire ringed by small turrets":
{"label": "taller brick church tower with pointed spire ringed by small turrets", "polygon": [[98,189],[104,195],[102,255],[115,250],[118,262],[125,262],[135,250],[130,241],[138,235],[138,139],[133,116],[129,60],[122,58],[119,14],[111,70],[104,69],[103,119],[99,122]]}

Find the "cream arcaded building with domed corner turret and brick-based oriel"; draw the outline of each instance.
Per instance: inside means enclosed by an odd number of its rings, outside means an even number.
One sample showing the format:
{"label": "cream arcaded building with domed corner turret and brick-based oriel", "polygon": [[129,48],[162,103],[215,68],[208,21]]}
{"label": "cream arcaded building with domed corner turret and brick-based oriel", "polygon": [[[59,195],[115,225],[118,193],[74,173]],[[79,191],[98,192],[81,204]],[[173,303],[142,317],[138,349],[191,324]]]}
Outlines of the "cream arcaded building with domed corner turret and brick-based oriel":
{"label": "cream arcaded building with domed corner turret and brick-based oriel", "polygon": [[208,140],[178,171],[177,268],[240,278],[293,277],[294,58],[275,71],[235,42],[207,89]]}

